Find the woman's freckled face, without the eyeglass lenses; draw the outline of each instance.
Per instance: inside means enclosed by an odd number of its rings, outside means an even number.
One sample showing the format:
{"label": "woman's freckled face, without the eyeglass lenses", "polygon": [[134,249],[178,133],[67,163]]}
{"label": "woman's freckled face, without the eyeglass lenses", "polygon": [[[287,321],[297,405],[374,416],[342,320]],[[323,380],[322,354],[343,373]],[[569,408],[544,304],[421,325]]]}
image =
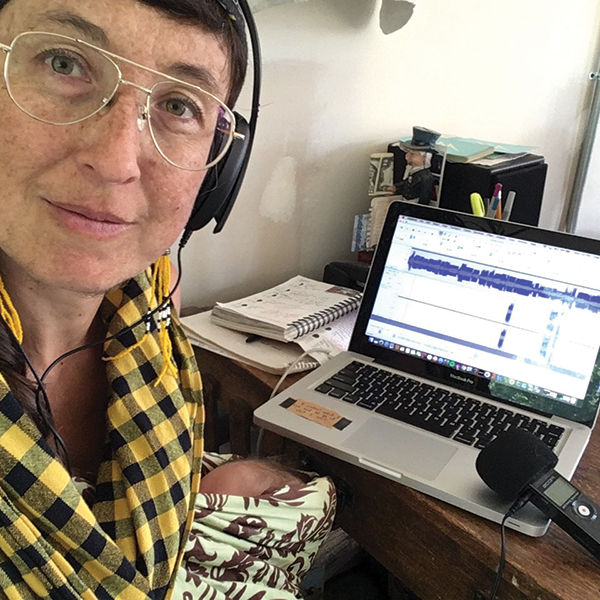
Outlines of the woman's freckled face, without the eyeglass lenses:
{"label": "woman's freckled face, without the eyeglass lenses", "polygon": [[[181,72],[208,71],[208,91],[227,96],[219,41],[135,0],[11,0],[0,12],[0,42],[31,30],[83,38],[204,88],[205,81]],[[146,88],[160,79],[120,66],[124,79]],[[138,128],[145,100],[121,86],[110,110],[75,125],[48,125],[23,113],[0,80],[0,260],[34,281],[97,294],[175,242],[204,171],[183,171],[160,156],[148,128]]]}

